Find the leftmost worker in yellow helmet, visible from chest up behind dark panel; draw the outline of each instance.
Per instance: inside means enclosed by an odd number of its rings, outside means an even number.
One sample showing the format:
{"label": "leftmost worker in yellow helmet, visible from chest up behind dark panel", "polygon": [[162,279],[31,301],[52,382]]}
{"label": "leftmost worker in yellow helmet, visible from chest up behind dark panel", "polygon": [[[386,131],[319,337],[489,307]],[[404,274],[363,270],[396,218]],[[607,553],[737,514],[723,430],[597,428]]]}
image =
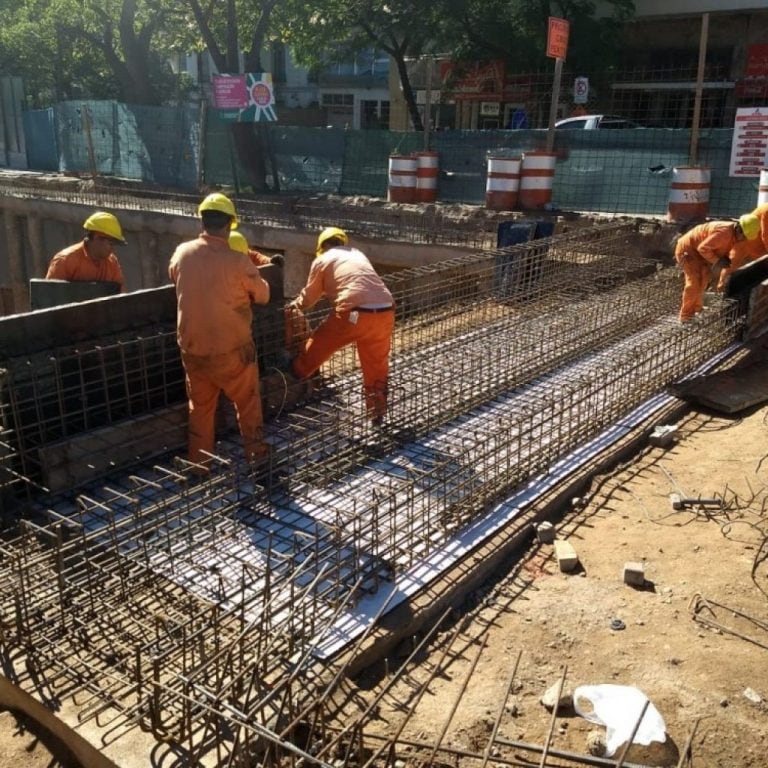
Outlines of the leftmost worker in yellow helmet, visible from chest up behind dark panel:
{"label": "leftmost worker in yellow helmet, visible from chest up behind dark panel", "polygon": [[48,265],[46,280],[102,280],[119,283],[125,280],[120,262],[114,254],[116,245],[125,245],[123,229],[117,217],[106,211],[92,213],[84,222],[85,237],[59,251]]}

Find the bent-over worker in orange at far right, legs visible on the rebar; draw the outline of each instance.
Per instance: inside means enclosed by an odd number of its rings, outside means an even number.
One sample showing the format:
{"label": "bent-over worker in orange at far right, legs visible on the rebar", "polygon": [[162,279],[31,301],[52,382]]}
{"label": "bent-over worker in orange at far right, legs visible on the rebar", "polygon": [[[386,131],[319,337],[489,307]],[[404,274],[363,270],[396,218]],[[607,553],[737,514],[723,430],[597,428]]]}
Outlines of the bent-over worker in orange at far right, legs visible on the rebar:
{"label": "bent-over worker in orange at far right, legs visible on the rebar", "polygon": [[704,292],[713,270],[730,265],[733,248],[760,234],[757,217],[745,213],[738,221],[709,221],[686,232],[675,246],[675,261],[685,274],[680,321],[690,320],[704,306]]}

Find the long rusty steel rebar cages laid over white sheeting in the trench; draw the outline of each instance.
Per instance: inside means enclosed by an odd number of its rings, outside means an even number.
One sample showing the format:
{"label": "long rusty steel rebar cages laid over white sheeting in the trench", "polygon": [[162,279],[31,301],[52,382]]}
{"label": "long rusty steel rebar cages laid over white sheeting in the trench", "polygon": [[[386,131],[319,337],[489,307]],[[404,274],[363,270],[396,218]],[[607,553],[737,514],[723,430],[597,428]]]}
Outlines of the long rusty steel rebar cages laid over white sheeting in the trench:
{"label": "long rusty steel rebar cages laid over white sheeting in the trench", "polygon": [[[192,764],[327,764],[344,674],[330,660],[364,642],[398,579],[447,562],[495,504],[735,338],[727,303],[680,326],[678,276],[624,257],[627,232],[603,225],[393,276],[383,430],[341,353],[303,407],[269,423],[266,476],[227,438],[206,480],[158,461],[33,504],[0,549],[2,639],[23,654],[20,678],[74,697],[80,723],[97,720],[108,740],[139,726]],[[149,343],[147,381],[166,333]],[[11,414],[30,401],[13,394],[18,375],[6,374]],[[77,377],[71,390],[54,379],[61,402],[77,399]],[[99,418],[118,404],[125,418],[134,401],[115,398]],[[375,593],[379,607],[350,629]]]}

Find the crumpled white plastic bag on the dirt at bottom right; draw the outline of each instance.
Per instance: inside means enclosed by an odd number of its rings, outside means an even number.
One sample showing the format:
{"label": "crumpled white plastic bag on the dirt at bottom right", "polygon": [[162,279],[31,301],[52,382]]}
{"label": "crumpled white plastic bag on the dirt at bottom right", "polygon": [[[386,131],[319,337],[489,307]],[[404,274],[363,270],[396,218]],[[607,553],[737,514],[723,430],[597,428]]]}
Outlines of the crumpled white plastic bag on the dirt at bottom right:
{"label": "crumpled white plastic bag on the dirt at bottom right", "polygon": [[[592,706],[584,706],[585,701]],[[573,692],[576,712],[590,723],[605,726],[605,753],[608,757],[632,735],[646,701],[648,697],[631,685],[580,685]],[[652,741],[664,742],[666,739],[664,718],[653,704],[649,704],[632,742],[647,746]]]}

